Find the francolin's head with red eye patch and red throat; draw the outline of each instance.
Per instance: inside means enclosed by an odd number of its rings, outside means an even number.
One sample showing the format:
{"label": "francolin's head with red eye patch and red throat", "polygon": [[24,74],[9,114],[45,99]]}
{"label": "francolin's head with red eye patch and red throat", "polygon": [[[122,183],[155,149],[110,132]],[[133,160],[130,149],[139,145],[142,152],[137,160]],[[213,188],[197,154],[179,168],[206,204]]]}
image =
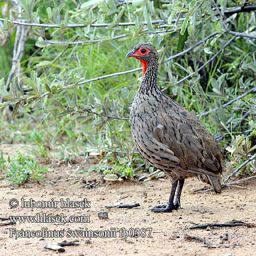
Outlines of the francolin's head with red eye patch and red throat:
{"label": "francolin's head with red eye patch and red throat", "polygon": [[141,42],[135,46],[131,52],[126,54],[125,58],[129,57],[135,57],[136,59],[140,60],[144,75],[148,62],[155,59],[158,60],[158,53],[152,45],[148,44],[147,42]]}

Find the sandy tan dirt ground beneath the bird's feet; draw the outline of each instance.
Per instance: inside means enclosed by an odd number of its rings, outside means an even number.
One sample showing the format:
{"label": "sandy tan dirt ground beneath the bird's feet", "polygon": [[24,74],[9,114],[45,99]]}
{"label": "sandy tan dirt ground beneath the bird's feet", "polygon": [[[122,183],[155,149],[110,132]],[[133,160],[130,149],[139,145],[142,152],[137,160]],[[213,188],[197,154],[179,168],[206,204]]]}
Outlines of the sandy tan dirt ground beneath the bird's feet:
{"label": "sandy tan dirt ground beneath the bird's feet", "polygon": [[[3,149],[3,145],[2,145]],[[12,148],[11,153],[14,150]],[[5,156],[10,148],[4,148]],[[167,214],[155,214],[150,207],[166,203],[169,196],[168,179],[148,182],[102,182],[97,173],[80,173],[86,164],[48,165],[46,181],[13,186],[0,181],[0,217],[35,216],[37,213],[56,216],[89,216],[90,223],[16,223],[0,226],[0,255],[255,255],[256,228],[226,227],[186,230],[195,223],[224,223],[232,220],[256,223],[256,187],[250,180],[242,188],[223,189],[221,195],[211,191],[191,194],[191,189],[204,186],[197,179],[185,181],[181,198],[182,208]],[[89,188],[92,187],[92,188]],[[19,206],[11,209],[10,199],[17,199]],[[22,208],[22,199],[28,201],[55,201],[60,199],[90,201],[91,208]],[[105,206],[121,203],[139,203],[132,209]],[[107,211],[109,219],[98,218],[99,211]],[[8,221],[1,221],[6,223]],[[63,230],[63,238],[9,238],[10,228],[19,230]],[[110,230],[116,228],[117,238],[67,238],[71,230]],[[148,238],[119,238],[119,230],[152,228]],[[122,229],[121,229],[122,230]],[[132,232],[132,231],[131,231]],[[148,234],[148,232],[146,232]],[[200,239],[188,239],[193,236]],[[226,237],[226,240],[221,239]],[[76,241],[76,246],[65,246],[65,252],[44,248],[45,243],[56,245],[66,240]]]}

